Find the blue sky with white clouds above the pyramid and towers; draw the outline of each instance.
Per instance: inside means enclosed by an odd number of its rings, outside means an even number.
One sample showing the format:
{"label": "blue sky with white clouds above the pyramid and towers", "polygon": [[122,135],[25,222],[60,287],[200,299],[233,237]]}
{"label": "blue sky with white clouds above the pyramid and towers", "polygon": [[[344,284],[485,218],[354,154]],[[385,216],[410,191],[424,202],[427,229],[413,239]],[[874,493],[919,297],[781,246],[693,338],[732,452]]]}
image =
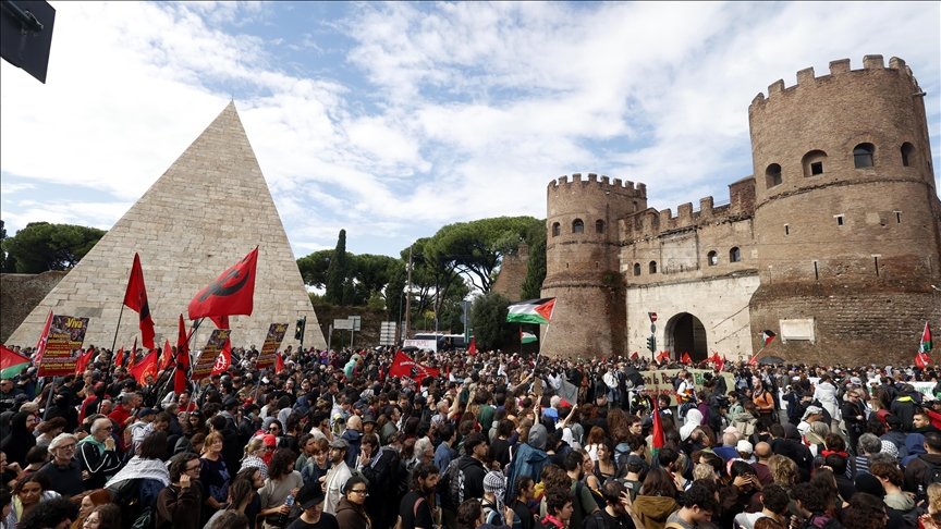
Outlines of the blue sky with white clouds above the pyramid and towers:
{"label": "blue sky with white clouds above the pyramid and towers", "polygon": [[109,229],[232,99],[296,257],[545,218],[575,172],[728,200],[751,99],[866,54],[912,67],[939,167],[939,2],[50,3],[47,83],[0,63],[11,235]]}

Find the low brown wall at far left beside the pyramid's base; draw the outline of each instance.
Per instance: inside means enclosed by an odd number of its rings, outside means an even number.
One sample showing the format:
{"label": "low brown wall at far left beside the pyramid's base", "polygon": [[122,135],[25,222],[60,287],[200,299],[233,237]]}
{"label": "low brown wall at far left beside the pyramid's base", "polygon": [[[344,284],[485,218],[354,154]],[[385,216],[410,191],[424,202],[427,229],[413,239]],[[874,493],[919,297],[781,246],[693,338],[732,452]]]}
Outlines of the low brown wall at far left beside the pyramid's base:
{"label": "low brown wall at far left beside the pyramid's base", "polygon": [[[7,339],[23,323],[29,312],[42,302],[56,285],[62,281],[66,272],[50,270],[48,272],[30,273],[4,273],[0,274],[0,343],[7,343]],[[23,343],[11,343],[10,345],[34,346],[39,340],[37,333],[30,341],[29,336],[21,339]]]}

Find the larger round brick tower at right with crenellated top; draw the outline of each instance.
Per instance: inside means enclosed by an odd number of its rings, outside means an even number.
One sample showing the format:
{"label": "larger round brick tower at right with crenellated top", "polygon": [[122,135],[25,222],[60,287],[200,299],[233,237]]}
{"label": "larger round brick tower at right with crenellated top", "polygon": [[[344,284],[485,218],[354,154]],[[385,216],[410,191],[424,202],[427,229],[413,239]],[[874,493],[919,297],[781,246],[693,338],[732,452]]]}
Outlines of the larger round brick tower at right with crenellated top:
{"label": "larger round brick tower at right with crenellated top", "polygon": [[[911,361],[926,321],[941,319],[941,202],[924,93],[901,59],[797,72],[748,109],[760,286],[755,350],[793,360]],[[794,336],[789,341],[787,335]],[[859,356],[856,356],[859,355]],[[887,360],[889,361],[889,360]]]}

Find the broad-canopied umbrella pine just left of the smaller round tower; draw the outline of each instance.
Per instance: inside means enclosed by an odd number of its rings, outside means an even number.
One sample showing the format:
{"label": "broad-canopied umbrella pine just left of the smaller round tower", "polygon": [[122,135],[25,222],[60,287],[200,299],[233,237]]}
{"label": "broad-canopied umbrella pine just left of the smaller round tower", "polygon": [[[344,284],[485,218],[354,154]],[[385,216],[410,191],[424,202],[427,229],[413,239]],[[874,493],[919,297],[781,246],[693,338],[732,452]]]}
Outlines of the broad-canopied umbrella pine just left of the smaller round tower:
{"label": "broad-canopied umbrella pine just left of the smaller round tower", "polygon": [[498,217],[448,224],[425,246],[426,260],[465,275],[481,292],[490,292],[504,255],[526,239],[531,217]]}

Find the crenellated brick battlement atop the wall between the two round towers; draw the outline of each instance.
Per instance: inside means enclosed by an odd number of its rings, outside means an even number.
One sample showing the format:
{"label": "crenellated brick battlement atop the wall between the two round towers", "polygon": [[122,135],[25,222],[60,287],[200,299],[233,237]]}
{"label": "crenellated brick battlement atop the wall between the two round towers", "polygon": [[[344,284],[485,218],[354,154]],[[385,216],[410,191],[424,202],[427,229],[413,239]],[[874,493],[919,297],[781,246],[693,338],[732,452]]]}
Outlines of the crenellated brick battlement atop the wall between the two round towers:
{"label": "crenellated brick battlement atop the wall between the two round towers", "polygon": [[755,179],[745,177],[729,186],[729,202],[714,205],[712,197],[699,199],[699,209],[693,209],[693,202],[680,205],[676,214],[670,208],[657,211],[649,208],[625,218],[621,224],[621,236],[624,241],[637,241],[647,237],[683,231],[702,224],[719,224],[750,218],[755,212]]}

